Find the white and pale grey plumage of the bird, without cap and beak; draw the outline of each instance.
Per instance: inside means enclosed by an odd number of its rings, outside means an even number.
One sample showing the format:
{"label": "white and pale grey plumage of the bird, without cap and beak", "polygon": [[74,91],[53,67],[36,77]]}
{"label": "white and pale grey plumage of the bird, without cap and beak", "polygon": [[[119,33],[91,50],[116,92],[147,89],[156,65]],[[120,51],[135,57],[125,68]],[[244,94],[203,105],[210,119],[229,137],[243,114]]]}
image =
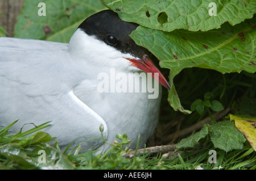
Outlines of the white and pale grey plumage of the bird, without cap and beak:
{"label": "white and pale grey plumage of the bird, without cap and beak", "polygon": [[[144,146],[158,123],[161,86],[158,99],[148,99],[148,92],[97,91],[99,73],[110,73],[110,68],[125,74],[139,71],[126,58],[135,57],[80,29],[69,44],[0,37],[0,126],[19,119],[13,127],[18,132],[25,123],[52,121],[45,131],[65,146],[101,136],[103,124],[108,142],[126,133],[134,149],[141,134]],[[100,139],[81,148],[100,145],[109,148]]]}

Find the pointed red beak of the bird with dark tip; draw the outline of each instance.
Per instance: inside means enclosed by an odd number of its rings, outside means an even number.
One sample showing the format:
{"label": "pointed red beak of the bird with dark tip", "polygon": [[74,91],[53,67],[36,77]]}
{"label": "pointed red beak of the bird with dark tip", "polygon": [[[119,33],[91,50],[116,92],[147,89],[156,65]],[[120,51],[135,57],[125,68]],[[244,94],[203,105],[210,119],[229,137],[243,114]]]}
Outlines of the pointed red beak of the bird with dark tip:
{"label": "pointed red beak of the bird with dark tip", "polygon": [[166,87],[168,90],[171,89],[169,83],[166,81],[166,78],[160,72],[160,70],[156,68],[155,64],[152,62],[150,57],[148,57],[147,55],[144,55],[142,60],[131,59],[131,58],[126,58],[126,59],[131,61],[133,65],[136,66],[138,69],[141,69],[146,73],[152,73],[153,78],[155,78],[154,73],[158,73],[159,79],[156,79],[156,78],[155,79],[159,81],[159,83],[162,84],[164,87]]}

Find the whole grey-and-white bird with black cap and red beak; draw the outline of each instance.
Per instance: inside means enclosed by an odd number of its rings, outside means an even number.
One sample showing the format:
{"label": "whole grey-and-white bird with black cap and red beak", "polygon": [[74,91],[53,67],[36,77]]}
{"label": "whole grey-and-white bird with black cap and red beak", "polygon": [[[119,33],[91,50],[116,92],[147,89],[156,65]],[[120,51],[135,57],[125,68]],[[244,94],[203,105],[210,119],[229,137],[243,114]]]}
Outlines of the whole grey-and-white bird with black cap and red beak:
{"label": "whole grey-and-white bird with black cap and red beak", "polygon": [[[103,153],[117,134],[127,134],[130,149],[140,136],[143,148],[158,124],[161,85],[170,85],[148,50],[129,36],[138,26],[102,10],[86,18],[69,43],[0,37],[0,126],[18,120],[10,128],[16,133],[51,121],[43,131],[61,149],[80,145]],[[142,73],[159,85],[155,98],[143,91]],[[130,75],[139,89],[129,89]]]}

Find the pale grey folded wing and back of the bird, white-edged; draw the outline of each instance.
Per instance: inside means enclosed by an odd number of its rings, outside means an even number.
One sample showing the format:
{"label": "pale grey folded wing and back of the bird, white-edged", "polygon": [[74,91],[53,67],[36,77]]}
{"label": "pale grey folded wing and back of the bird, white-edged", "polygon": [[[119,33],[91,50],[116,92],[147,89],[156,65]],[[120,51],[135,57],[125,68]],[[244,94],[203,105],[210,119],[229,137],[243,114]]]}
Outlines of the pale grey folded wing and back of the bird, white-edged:
{"label": "pale grey folded wing and back of the bird, white-edged", "polygon": [[[18,132],[25,123],[51,121],[43,131],[56,137],[60,146],[101,137],[101,124],[107,137],[105,121],[73,94],[71,83],[65,82],[73,75],[66,73],[69,70],[64,68],[70,66],[61,61],[67,57],[66,50],[67,44],[0,38],[0,126],[19,119],[12,127]],[[60,66],[57,72],[53,69],[56,65]],[[31,127],[34,125],[25,125],[22,131]],[[92,139],[81,149],[96,149],[103,143],[101,138]]]}

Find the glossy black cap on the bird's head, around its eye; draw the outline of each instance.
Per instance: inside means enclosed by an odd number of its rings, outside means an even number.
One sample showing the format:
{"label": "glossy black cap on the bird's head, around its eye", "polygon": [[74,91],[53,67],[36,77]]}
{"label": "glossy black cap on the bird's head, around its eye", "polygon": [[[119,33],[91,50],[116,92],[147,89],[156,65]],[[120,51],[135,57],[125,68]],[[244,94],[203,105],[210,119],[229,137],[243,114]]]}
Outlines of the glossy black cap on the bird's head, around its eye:
{"label": "glossy black cap on the bird's head, around its eye", "polygon": [[122,53],[142,58],[147,49],[138,46],[129,36],[139,25],[121,20],[112,10],[104,10],[89,16],[79,26],[87,35],[95,36]]}

